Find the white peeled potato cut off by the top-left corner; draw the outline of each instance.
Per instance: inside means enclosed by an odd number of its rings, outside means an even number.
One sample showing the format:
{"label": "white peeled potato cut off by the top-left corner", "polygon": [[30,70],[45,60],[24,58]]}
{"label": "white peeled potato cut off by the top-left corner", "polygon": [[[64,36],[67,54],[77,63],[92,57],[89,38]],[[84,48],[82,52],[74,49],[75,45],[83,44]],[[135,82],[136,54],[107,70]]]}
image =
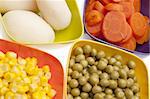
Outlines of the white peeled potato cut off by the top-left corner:
{"label": "white peeled potato cut off by the top-left corner", "polygon": [[30,10],[37,11],[35,0],[0,0],[0,12],[5,13],[10,10]]}

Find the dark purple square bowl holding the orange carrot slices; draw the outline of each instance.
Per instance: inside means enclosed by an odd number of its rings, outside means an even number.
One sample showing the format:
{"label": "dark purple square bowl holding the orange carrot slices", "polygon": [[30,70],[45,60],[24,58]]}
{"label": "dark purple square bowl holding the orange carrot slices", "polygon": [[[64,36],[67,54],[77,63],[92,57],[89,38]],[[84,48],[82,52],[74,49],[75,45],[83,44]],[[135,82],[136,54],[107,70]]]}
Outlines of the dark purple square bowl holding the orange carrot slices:
{"label": "dark purple square bowl holding the orange carrot slices", "polygon": [[[89,0],[85,0],[85,3],[84,3],[84,14],[85,14],[85,9],[86,9],[86,6],[88,4],[88,1]],[[141,13],[148,16],[149,17],[149,1],[148,0],[141,0]],[[117,46],[115,44],[112,44],[110,42],[107,42],[103,39],[100,39],[100,38],[97,38],[93,35],[90,34],[90,32],[87,30],[86,28],[86,25],[85,25],[85,15],[83,15],[83,23],[84,23],[84,28],[85,28],[85,32],[94,40],[98,41],[98,42],[102,42],[102,43],[105,43],[105,44],[108,44],[108,45],[111,45],[111,46],[115,46],[115,47],[118,47],[118,48],[121,48],[121,49],[124,49],[126,51],[129,51],[129,52],[132,52],[132,53],[139,53],[139,54],[147,54],[147,53],[150,53],[150,47],[149,47],[149,44],[150,42],[145,42],[144,44],[142,45],[139,45],[137,44],[137,47],[136,47],[136,50],[135,51],[132,51],[132,50],[128,50],[126,48],[123,48],[123,47],[120,47],[120,46]]]}

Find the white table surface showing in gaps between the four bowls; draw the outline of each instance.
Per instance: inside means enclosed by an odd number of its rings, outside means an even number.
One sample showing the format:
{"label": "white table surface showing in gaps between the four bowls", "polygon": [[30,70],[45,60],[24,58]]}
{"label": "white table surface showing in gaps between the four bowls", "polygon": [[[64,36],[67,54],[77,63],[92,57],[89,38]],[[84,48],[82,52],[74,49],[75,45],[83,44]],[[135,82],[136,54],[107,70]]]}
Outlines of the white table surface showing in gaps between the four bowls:
{"label": "white table surface showing in gaps between the four bowls", "polygon": [[[83,7],[84,7],[84,0],[77,0],[77,4],[79,6],[79,10],[81,15],[83,15]],[[7,35],[4,33],[4,30],[0,24],[0,38],[10,40]],[[91,39],[88,35],[84,34],[82,39]],[[66,70],[66,64],[67,64],[67,57],[69,50],[71,48],[73,43],[69,44],[50,44],[50,45],[29,45],[34,48],[40,49],[42,51],[45,51],[53,56],[55,56],[63,65],[64,71]],[[146,64],[148,71],[150,71],[150,54],[148,55],[138,55]],[[149,74],[150,76],[150,74]]]}

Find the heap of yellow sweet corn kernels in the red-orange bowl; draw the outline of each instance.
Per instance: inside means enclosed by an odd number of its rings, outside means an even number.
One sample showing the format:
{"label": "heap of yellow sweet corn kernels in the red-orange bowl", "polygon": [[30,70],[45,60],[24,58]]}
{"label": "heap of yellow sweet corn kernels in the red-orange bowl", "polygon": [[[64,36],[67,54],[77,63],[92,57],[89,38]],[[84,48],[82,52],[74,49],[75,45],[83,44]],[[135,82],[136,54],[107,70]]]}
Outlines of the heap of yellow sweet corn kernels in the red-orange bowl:
{"label": "heap of yellow sweet corn kernels in the red-orange bowl", "polygon": [[49,66],[39,68],[37,62],[0,51],[0,99],[52,99],[56,91],[48,84]]}

